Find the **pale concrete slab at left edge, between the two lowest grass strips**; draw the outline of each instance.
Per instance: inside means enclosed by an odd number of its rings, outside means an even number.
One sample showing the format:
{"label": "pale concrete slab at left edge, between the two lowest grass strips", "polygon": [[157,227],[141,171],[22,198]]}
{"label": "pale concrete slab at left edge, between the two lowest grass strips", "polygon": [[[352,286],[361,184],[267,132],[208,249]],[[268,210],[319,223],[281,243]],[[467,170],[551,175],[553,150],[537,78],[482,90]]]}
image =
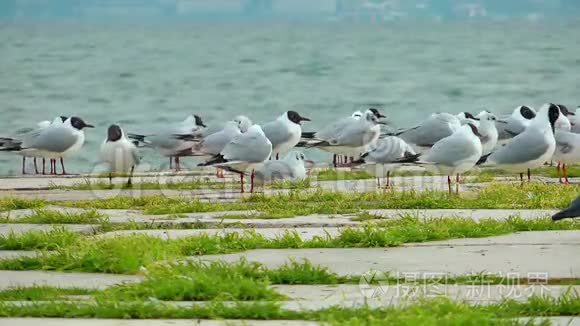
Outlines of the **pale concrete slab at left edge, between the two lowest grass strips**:
{"label": "pale concrete slab at left edge, between the two lowest grass strips", "polygon": [[142,277],[137,275],[0,270],[0,290],[34,285],[60,288],[104,289],[117,284],[140,282],[141,280]]}

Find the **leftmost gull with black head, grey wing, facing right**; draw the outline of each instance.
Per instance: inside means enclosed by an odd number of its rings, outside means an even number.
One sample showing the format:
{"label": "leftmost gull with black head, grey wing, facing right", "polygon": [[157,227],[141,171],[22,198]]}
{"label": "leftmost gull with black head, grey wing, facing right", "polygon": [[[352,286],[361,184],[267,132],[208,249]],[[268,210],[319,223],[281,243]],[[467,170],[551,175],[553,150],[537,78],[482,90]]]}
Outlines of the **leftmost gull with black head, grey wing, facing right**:
{"label": "leftmost gull with black head, grey wing, facing right", "polygon": [[37,156],[51,159],[51,174],[56,174],[56,159],[60,159],[62,174],[65,175],[63,158],[77,152],[85,142],[83,129],[94,128],[79,117],[70,117],[64,122],[56,118],[53,123],[38,129],[25,140],[14,143],[12,147],[0,150],[18,152],[23,156]]}

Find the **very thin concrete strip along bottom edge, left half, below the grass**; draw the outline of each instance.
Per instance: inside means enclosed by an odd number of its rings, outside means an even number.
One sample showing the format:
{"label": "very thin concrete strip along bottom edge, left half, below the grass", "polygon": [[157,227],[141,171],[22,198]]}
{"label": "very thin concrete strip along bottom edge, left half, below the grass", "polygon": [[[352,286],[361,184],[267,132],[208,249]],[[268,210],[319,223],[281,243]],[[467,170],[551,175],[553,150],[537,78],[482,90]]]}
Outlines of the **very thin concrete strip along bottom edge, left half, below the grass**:
{"label": "very thin concrete strip along bottom edge, left half, below the grass", "polygon": [[10,326],[314,326],[317,322],[301,320],[207,320],[207,319],[64,319],[64,318],[0,318],[0,325]]}

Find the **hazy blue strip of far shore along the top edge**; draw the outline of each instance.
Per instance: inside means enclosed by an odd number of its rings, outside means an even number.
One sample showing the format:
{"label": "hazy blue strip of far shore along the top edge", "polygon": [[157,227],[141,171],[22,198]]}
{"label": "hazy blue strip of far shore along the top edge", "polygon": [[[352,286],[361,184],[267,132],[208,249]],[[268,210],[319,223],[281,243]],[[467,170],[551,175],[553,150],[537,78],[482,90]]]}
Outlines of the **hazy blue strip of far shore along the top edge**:
{"label": "hazy blue strip of far shore along the top edge", "polygon": [[0,19],[542,21],[577,19],[576,0],[2,0]]}

